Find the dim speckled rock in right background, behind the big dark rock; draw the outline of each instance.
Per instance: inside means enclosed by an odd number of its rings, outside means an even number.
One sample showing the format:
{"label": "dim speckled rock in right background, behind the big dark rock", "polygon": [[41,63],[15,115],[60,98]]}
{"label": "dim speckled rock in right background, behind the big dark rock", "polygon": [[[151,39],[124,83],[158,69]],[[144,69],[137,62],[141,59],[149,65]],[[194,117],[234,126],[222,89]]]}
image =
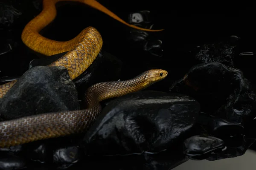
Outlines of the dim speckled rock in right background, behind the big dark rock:
{"label": "dim speckled rock in right background, behind the big dark rock", "polygon": [[200,45],[197,48],[195,59],[203,63],[220,62],[233,67],[237,40],[239,37],[231,36],[229,41]]}

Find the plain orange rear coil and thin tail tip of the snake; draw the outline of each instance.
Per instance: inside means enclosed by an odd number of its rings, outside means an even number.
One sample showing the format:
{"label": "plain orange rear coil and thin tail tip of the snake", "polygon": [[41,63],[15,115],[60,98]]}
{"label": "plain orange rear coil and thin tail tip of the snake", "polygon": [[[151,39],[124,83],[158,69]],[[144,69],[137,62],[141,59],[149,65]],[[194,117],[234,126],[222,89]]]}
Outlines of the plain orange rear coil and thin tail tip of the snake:
{"label": "plain orange rear coil and thin tail tip of the snake", "polygon": [[73,46],[76,44],[77,39],[79,39],[80,37],[80,34],[79,34],[72,40],[60,42],[60,41],[49,40],[38,33],[39,31],[41,31],[42,28],[44,28],[49,23],[51,23],[52,20],[54,20],[57,14],[55,3],[59,1],[75,1],[80,3],[85,3],[88,6],[96,8],[97,10],[102,11],[105,14],[108,14],[110,17],[114,18],[115,20],[118,20],[119,22],[132,28],[140,29],[143,31],[162,31],[162,29],[150,30],[150,29],[140,28],[140,27],[128,24],[124,20],[116,16],[116,14],[114,14],[113,12],[109,11],[107,8],[102,6],[96,0],[44,0],[43,10],[38,16],[36,16],[33,20],[31,20],[26,25],[26,27],[23,29],[23,32],[21,34],[21,39],[29,48],[47,56],[50,56],[53,54],[59,54],[59,53],[71,50],[71,48],[73,48]]}

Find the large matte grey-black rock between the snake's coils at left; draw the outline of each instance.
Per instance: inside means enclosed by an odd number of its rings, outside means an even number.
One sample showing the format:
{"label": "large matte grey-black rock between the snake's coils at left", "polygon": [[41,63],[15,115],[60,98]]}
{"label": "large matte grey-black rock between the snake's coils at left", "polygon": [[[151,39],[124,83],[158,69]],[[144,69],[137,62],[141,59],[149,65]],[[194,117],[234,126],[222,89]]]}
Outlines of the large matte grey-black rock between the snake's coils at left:
{"label": "large matte grey-black rock between the snake's coils at left", "polygon": [[38,66],[26,71],[0,101],[2,119],[78,110],[75,84],[64,67]]}

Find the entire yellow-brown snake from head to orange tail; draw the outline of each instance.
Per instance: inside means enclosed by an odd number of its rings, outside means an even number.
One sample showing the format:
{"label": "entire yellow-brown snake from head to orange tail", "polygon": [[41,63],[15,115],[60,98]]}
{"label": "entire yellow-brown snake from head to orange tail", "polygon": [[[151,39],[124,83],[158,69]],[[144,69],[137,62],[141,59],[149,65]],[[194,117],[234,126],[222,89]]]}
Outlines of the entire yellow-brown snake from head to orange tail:
{"label": "entire yellow-brown snake from head to orange tail", "polygon": [[[73,80],[93,63],[102,48],[103,41],[99,31],[93,27],[85,28],[75,38],[64,42],[50,40],[41,36],[39,34],[41,29],[54,20],[57,12],[55,4],[59,1],[65,0],[43,0],[43,10],[25,26],[21,34],[21,39],[26,46],[46,56],[68,51],[67,54],[48,66],[64,66],[67,68],[70,78]],[[161,31],[130,25],[96,0],[68,1],[85,3],[132,28],[143,31]],[[44,113],[0,122],[0,147],[10,147],[36,140],[84,132],[101,112],[100,101],[140,91],[164,79],[166,76],[167,71],[153,69],[145,71],[133,79],[118,82],[101,82],[87,89],[85,93],[87,109],[85,110]],[[19,80],[17,79],[0,85],[0,98],[17,81]]]}

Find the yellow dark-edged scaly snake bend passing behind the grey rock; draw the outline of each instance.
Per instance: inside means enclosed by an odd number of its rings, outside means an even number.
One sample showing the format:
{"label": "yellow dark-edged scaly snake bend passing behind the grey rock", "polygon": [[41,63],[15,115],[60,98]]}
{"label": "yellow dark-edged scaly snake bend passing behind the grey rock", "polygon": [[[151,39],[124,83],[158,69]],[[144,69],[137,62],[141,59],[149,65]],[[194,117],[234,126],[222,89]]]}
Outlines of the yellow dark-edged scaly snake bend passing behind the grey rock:
{"label": "yellow dark-edged scaly snake bend passing behind the grey rock", "polygon": [[[64,66],[73,80],[83,73],[96,59],[102,48],[102,37],[93,27],[85,28],[80,34],[77,44],[67,54],[48,66]],[[17,82],[14,80],[0,85],[0,98]]]}

